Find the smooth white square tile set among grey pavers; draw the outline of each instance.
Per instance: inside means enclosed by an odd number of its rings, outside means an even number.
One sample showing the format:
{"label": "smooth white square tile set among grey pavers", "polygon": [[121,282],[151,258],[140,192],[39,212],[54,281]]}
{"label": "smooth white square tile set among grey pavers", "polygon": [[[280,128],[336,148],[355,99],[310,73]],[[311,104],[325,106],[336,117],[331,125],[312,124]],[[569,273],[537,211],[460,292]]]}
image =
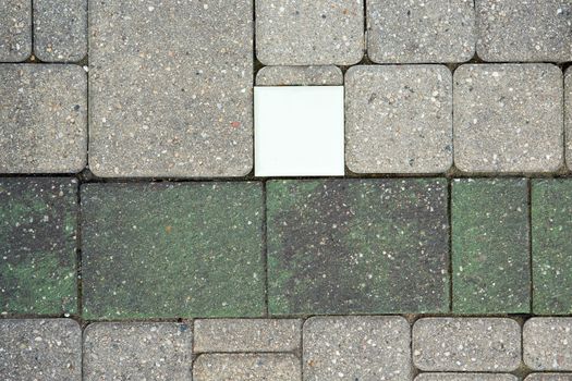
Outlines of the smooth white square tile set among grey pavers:
{"label": "smooth white square tile set among grey pavers", "polygon": [[255,175],[343,175],[343,86],[255,87]]}

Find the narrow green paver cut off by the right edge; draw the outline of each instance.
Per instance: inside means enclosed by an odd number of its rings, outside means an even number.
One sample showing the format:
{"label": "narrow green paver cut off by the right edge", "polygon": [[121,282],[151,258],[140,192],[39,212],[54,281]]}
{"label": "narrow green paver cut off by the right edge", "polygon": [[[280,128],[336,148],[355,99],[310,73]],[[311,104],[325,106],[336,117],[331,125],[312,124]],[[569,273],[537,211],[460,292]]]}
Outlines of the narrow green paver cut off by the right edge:
{"label": "narrow green paver cut off by the right edge", "polygon": [[532,184],[533,312],[572,314],[572,181]]}

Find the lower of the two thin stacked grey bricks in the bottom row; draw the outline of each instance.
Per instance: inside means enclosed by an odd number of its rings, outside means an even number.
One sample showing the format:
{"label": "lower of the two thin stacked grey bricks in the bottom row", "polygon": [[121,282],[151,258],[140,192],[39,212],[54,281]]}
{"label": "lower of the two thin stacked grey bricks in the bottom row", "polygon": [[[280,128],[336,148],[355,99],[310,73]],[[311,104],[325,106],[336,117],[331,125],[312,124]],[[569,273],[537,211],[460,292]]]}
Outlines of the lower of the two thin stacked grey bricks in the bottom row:
{"label": "lower of the two thin stacked grey bricks in the bottom row", "polygon": [[194,381],[301,381],[300,359],[287,354],[208,354],[193,366]]}

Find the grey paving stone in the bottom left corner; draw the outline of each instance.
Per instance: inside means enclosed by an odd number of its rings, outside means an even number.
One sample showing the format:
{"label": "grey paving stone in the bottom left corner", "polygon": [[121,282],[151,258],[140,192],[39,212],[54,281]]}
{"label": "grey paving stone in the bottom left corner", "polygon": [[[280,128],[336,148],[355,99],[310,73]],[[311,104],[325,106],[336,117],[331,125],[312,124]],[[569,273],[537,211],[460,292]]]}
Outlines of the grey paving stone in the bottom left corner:
{"label": "grey paving stone in the bottom left corner", "polygon": [[0,320],[0,374],[7,381],[80,381],[80,324],[71,319]]}

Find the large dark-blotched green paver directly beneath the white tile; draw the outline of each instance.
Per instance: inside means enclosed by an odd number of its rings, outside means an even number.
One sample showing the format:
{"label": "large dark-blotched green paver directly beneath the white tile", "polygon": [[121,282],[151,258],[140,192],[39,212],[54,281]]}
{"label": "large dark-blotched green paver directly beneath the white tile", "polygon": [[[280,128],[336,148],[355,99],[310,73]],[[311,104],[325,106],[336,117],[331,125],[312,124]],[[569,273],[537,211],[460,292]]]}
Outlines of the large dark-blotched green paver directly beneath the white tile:
{"label": "large dark-blotched green paver directly beneath the white tile", "polygon": [[447,181],[267,183],[271,315],[446,312]]}

